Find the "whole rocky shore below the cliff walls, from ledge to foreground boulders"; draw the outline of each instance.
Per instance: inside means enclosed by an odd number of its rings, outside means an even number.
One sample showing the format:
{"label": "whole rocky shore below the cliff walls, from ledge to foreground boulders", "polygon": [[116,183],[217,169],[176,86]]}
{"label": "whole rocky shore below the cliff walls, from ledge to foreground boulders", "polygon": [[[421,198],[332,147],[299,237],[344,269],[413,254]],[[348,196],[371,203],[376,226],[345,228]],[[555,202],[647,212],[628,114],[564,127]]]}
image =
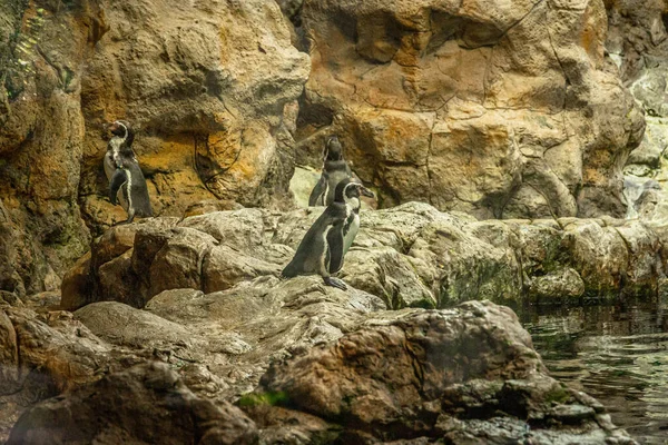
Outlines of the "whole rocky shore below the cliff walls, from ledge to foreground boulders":
{"label": "whole rocky shore below the cliff walls, from ledge to foreground boulders", "polygon": [[[477,221],[419,202],[364,210],[341,291],[278,278],[320,211],[117,226],[66,275],[61,306],[3,294],[6,435],[27,409],[9,443],[141,441],[184,411],[193,421],[169,435],[210,443],[632,443],[600,404],[549,377],[512,310],[454,305],[655,298],[665,281],[655,229]],[[188,402],[159,408],[160,394]],[[68,424],[70,406],[95,413],[108,397],[125,407]],[[129,424],[146,404],[145,427]]]}

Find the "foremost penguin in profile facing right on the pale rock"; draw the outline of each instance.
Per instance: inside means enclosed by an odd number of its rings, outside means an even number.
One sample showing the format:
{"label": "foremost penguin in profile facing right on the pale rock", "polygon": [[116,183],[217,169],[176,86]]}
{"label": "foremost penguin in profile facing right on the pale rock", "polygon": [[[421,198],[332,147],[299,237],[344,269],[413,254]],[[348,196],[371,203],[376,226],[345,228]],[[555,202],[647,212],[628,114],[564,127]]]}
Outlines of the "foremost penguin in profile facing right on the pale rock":
{"label": "foremost penguin in profile facing right on the pale rock", "polygon": [[334,201],[304,235],[294,258],[281,273],[283,277],[317,274],[325,285],[346,289],[345,283],[332,275],[343,267],[345,254],[360,230],[360,195],[374,197],[371,190],[352,178],[336,185]]}

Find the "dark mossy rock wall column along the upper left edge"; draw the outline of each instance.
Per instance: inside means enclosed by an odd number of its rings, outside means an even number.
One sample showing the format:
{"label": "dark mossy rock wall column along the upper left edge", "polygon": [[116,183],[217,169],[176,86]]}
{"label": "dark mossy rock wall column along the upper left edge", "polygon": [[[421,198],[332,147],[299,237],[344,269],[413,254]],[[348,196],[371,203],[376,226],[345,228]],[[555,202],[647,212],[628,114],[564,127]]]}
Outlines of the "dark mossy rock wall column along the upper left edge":
{"label": "dark mossy rock wall column along the upper left edge", "polygon": [[95,2],[56,3],[0,6],[0,285],[19,295],[57,289],[88,248],[77,204],[80,83],[102,12]]}

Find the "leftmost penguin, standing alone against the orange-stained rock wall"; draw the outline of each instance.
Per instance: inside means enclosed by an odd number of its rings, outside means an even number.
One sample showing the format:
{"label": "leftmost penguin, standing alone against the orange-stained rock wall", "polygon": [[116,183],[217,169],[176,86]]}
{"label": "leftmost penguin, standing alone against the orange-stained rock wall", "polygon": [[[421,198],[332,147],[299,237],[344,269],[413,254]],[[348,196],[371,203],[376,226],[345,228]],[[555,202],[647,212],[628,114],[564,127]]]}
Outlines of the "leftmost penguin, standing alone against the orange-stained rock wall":
{"label": "leftmost penguin, standing alone against the orange-stained rock wall", "polygon": [[132,127],[125,120],[117,120],[109,126],[109,131],[114,136],[107,145],[104,160],[105,174],[109,180],[109,200],[114,205],[120,201],[128,212],[126,224],[132,222],[135,216],[150,217],[153,209],[146,179],[132,150]]}

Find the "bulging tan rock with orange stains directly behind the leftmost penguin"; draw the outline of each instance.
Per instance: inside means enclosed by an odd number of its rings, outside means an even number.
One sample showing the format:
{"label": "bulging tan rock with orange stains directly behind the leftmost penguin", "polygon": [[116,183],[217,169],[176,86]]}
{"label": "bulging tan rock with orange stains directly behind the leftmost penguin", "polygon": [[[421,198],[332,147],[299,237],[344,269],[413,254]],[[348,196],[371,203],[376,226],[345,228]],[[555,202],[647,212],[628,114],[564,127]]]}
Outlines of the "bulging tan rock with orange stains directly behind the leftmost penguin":
{"label": "bulging tan rock with orange stains directly behind the leftmost penguin", "polygon": [[87,216],[111,222],[99,186],[100,126],[118,117],[139,127],[134,147],[158,214],[181,215],[212,199],[287,205],[289,108],[308,77],[308,57],[292,47],[278,7],[151,0],[105,12],[109,31],[81,85]]}

